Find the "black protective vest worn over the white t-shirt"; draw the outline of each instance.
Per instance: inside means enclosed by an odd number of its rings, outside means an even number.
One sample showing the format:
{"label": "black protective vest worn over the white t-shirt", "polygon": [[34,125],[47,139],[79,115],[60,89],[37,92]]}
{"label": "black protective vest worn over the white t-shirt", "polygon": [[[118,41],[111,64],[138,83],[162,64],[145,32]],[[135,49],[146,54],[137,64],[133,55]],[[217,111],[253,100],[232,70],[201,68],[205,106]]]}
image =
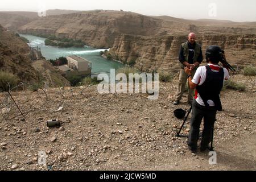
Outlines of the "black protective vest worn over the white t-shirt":
{"label": "black protective vest worn over the white t-shirt", "polygon": [[207,76],[203,85],[197,85],[197,92],[200,94],[204,105],[209,108],[208,100],[212,100],[217,110],[222,110],[220,92],[223,87],[224,70],[220,68],[219,72],[213,72],[209,65],[207,68]]}

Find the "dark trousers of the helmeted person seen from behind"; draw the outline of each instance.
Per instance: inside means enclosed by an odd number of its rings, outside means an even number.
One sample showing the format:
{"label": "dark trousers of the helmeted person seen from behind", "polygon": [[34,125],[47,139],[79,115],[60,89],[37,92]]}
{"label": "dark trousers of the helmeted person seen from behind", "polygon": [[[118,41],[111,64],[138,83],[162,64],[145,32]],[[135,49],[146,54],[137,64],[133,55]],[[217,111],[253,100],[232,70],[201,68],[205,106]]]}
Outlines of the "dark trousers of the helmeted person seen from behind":
{"label": "dark trousers of the helmeted person seen from behind", "polygon": [[212,128],[214,122],[216,121],[216,107],[209,107],[208,109],[205,106],[201,106],[193,100],[192,105],[192,118],[191,118],[191,129],[188,136],[188,146],[192,148],[197,147],[197,141],[200,134],[200,125],[202,119],[204,118],[204,130],[203,138],[201,140],[201,147],[206,147],[212,139]]}

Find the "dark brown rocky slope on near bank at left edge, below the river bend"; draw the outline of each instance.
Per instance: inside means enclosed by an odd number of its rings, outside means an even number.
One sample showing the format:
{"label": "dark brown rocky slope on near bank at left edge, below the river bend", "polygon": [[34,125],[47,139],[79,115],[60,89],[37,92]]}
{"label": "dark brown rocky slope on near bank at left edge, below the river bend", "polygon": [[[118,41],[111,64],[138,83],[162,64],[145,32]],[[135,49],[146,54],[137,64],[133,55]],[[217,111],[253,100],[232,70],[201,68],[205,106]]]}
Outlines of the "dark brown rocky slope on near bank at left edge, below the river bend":
{"label": "dark brown rocky slope on near bank at left edge, below the river bend", "polygon": [[[43,60],[41,68],[32,65],[30,48],[13,32],[6,31],[0,25],[0,70],[14,73],[24,83],[44,80],[49,86],[69,85],[61,73]],[[51,78],[54,78],[51,80]]]}

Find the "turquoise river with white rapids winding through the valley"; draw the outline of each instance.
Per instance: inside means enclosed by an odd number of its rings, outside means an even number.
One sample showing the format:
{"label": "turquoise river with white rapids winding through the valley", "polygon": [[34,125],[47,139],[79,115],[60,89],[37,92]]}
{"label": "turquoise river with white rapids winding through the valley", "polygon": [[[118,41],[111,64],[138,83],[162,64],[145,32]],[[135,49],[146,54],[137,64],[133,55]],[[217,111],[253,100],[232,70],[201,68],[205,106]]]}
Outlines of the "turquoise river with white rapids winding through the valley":
{"label": "turquoise river with white rapids winding through the valley", "polygon": [[40,47],[42,55],[48,60],[56,59],[61,56],[65,57],[68,55],[78,55],[92,62],[92,73],[98,71],[110,71],[110,69],[118,69],[124,67],[123,64],[118,63],[117,61],[110,61],[105,59],[104,57],[101,57],[100,51],[105,51],[105,49],[94,49],[88,46],[85,46],[83,48],[58,48],[46,46],[44,44],[45,38],[24,34],[20,34],[20,36],[23,36],[30,41],[30,43],[28,44],[30,47]]}

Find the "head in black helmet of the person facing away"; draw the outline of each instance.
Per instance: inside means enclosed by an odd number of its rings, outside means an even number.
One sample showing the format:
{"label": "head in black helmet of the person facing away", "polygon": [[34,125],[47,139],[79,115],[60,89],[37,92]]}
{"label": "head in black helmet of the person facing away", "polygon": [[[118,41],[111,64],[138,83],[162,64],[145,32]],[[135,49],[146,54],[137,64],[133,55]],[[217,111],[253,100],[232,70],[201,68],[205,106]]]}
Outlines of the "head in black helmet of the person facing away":
{"label": "head in black helmet of the person facing away", "polygon": [[207,63],[218,64],[222,60],[222,50],[218,46],[209,46],[205,53]]}

